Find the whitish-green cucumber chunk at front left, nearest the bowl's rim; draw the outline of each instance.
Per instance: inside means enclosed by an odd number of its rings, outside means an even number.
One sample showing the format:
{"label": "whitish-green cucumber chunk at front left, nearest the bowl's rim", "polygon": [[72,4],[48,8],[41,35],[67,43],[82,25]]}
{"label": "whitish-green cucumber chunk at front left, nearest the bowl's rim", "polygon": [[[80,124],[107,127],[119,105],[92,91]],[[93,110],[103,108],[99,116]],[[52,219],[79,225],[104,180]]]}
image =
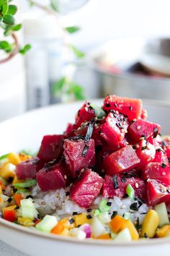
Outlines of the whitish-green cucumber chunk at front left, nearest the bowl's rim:
{"label": "whitish-green cucumber chunk at front left, nearest the bowl's rim", "polygon": [[58,221],[55,216],[46,215],[42,221],[37,223],[36,229],[50,233],[50,231],[57,225],[57,223]]}

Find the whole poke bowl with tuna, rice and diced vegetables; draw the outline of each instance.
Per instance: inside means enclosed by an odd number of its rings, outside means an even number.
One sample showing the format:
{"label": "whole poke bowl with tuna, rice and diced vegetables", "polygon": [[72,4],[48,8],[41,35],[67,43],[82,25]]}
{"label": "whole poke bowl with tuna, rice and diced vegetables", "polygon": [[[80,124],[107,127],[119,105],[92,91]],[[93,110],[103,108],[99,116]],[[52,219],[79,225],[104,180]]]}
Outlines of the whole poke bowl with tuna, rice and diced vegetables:
{"label": "whole poke bowl with tuna, rice and diced vegetables", "polygon": [[[143,101],[142,107],[115,95],[105,98],[106,108],[99,107],[102,100],[91,102],[0,124],[1,241],[35,256],[160,255],[163,249],[169,255],[169,137],[163,135],[169,135],[170,105]],[[103,153],[109,143],[112,150]]]}

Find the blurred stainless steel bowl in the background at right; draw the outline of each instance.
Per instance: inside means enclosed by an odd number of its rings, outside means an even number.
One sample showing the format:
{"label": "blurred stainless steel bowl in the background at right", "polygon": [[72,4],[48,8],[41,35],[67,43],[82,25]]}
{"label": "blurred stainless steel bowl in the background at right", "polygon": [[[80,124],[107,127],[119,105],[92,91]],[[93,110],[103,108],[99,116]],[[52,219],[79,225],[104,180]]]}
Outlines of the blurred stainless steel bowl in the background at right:
{"label": "blurred stainless steel bowl in the background at right", "polygon": [[[141,75],[129,67],[138,64],[143,54],[170,56],[170,38],[128,38],[111,40],[91,56],[91,67],[99,77],[99,95],[115,93],[120,96],[170,101],[170,77]],[[121,69],[112,69],[113,65]]]}

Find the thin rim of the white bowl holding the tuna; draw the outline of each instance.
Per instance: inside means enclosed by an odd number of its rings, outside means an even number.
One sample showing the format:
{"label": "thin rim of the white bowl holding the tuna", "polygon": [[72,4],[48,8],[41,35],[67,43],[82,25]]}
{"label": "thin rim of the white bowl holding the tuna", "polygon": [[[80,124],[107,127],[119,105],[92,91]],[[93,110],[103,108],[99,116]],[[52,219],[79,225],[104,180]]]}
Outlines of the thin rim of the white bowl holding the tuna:
{"label": "thin rim of the white bowl holding the tuna", "polygon": [[[102,101],[102,98],[98,98],[98,99],[94,99],[94,100],[89,100],[89,101]],[[84,101],[78,101],[76,103],[65,103],[65,105],[79,105],[80,103],[83,103]],[[155,100],[143,100],[143,103],[149,104],[149,105],[153,105],[153,106],[165,106],[170,108],[170,103],[168,102],[164,102],[164,101],[155,101]],[[62,106],[63,103],[58,103],[55,104],[53,106],[47,106],[45,108],[40,108],[37,110],[32,110],[32,111],[28,111],[26,114],[22,114],[16,117],[13,117],[12,119],[8,119],[6,121],[2,121],[0,123],[1,124],[6,124],[9,121],[12,121],[13,119],[20,119],[22,118],[22,116],[25,115],[29,115],[32,114],[33,112],[38,113],[40,111],[43,111],[47,108],[58,108],[60,106]],[[44,239],[50,239],[50,240],[59,240],[60,242],[68,242],[68,243],[74,243],[74,244],[94,244],[97,246],[114,246],[114,247],[119,247],[121,246],[135,246],[138,247],[140,245],[145,245],[145,246],[151,246],[151,245],[155,245],[155,244],[166,244],[167,242],[170,242],[170,237],[166,237],[166,238],[156,238],[156,239],[139,239],[136,241],[132,241],[132,242],[114,242],[114,240],[110,241],[110,240],[102,240],[102,239],[85,239],[83,241],[80,241],[79,239],[70,237],[70,236],[60,236],[58,234],[49,234],[49,233],[43,233],[42,231],[37,231],[36,229],[29,229],[27,227],[24,226],[19,226],[16,223],[11,223],[9,221],[4,220],[3,218],[0,218],[0,226],[4,226],[7,229],[12,229],[14,231],[19,231],[25,235],[29,235],[31,234],[32,236],[38,236],[39,238],[44,238]]]}

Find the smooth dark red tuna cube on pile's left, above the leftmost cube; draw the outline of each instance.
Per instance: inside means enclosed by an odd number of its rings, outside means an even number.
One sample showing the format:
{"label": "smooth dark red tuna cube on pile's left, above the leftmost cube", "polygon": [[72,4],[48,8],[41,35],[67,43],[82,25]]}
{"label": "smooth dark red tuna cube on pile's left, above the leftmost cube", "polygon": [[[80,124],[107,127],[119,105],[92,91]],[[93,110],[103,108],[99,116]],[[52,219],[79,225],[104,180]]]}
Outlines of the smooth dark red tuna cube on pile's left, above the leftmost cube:
{"label": "smooth dark red tuna cube on pile's left, above the leftmost cube", "polygon": [[61,157],[63,153],[63,135],[45,135],[42,139],[37,157],[50,162]]}

